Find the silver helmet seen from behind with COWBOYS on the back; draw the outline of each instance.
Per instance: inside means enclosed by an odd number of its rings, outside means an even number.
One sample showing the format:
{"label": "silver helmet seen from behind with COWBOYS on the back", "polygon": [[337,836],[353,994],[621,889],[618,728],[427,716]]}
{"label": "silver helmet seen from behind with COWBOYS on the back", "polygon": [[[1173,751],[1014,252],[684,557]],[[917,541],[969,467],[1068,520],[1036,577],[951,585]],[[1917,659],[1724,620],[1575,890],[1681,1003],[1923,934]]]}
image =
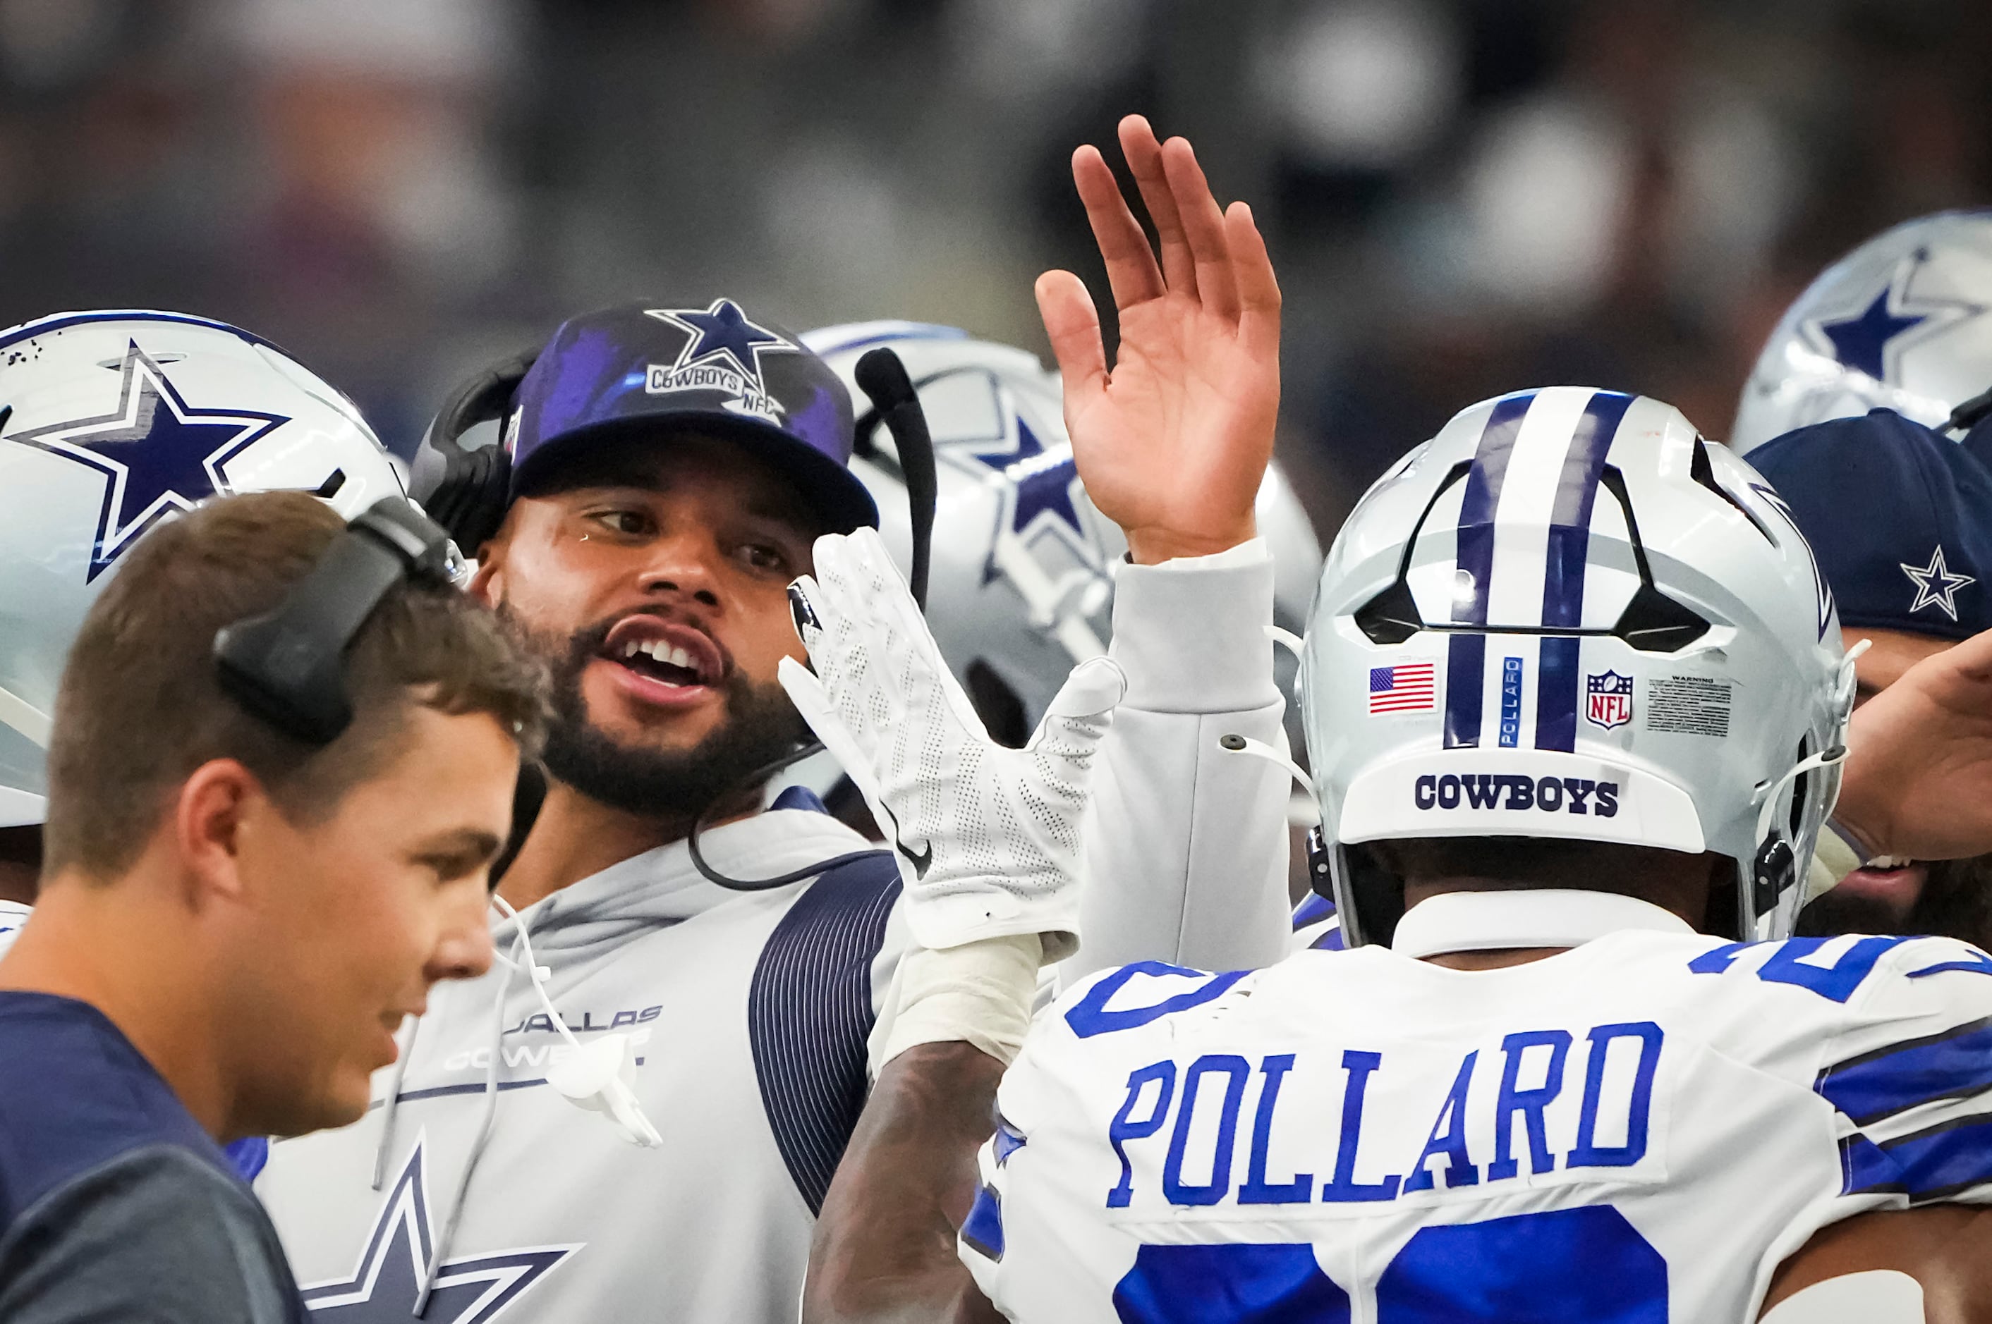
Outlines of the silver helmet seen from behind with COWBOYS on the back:
{"label": "silver helmet seen from behind with COWBOYS on the back", "polygon": [[1713,850],[1737,936],[1791,932],[1853,665],[1769,484],[1671,406],[1462,410],[1349,516],[1301,675],[1347,942],[1402,906],[1349,844],[1406,836]]}

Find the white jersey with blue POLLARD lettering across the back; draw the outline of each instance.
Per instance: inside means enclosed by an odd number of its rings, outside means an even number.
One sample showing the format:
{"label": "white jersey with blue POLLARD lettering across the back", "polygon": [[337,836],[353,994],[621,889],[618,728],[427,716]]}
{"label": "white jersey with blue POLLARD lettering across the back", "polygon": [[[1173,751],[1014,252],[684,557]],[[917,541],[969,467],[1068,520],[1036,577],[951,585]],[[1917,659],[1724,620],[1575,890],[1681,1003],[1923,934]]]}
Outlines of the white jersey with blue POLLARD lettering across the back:
{"label": "white jersey with blue POLLARD lettering across the back", "polygon": [[1372,946],[1070,990],[962,1258],[1018,1324],[1711,1324],[1835,1220],[1992,1201],[1992,958],[1602,902],[1502,970]]}

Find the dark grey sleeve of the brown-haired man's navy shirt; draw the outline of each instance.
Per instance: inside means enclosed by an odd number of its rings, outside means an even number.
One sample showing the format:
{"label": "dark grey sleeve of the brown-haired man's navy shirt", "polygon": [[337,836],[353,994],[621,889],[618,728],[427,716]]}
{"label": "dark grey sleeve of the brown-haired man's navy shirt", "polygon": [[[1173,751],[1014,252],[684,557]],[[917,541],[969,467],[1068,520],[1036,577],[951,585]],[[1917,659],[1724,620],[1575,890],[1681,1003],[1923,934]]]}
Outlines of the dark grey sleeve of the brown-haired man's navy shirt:
{"label": "dark grey sleeve of the brown-haired man's navy shirt", "polygon": [[255,1197],[173,1145],[48,1193],[0,1240],[8,1324],[293,1324],[277,1232]]}

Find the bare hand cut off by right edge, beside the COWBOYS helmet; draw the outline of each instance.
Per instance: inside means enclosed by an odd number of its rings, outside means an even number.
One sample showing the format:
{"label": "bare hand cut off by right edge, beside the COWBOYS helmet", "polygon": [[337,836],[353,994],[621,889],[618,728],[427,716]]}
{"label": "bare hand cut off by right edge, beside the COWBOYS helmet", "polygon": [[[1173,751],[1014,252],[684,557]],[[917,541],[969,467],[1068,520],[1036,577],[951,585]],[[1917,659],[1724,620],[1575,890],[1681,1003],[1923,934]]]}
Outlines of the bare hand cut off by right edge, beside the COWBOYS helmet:
{"label": "bare hand cut off by right edge, beside the COWBOYS helmet", "polygon": [[1861,705],[1847,749],[1833,816],[1872,854],[1992,854],[1992,631]]}

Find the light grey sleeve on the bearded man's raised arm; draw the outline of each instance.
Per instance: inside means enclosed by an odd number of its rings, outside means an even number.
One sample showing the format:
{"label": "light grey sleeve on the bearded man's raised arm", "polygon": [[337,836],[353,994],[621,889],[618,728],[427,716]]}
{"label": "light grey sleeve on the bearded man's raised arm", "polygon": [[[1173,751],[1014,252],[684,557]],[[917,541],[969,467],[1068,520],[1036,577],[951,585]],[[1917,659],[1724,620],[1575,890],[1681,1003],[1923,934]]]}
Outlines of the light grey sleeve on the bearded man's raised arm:
{"label": "light grey sleeve on the bearded man's raised arm", "polygon": [[1261,540],[1120,567],[1112,657],[1127,697],[1100,749],[1084,838],[1084,974],[1137,960],[1241,970],[1287,954],[1287,774],[1217,747],[1285,749]]}

